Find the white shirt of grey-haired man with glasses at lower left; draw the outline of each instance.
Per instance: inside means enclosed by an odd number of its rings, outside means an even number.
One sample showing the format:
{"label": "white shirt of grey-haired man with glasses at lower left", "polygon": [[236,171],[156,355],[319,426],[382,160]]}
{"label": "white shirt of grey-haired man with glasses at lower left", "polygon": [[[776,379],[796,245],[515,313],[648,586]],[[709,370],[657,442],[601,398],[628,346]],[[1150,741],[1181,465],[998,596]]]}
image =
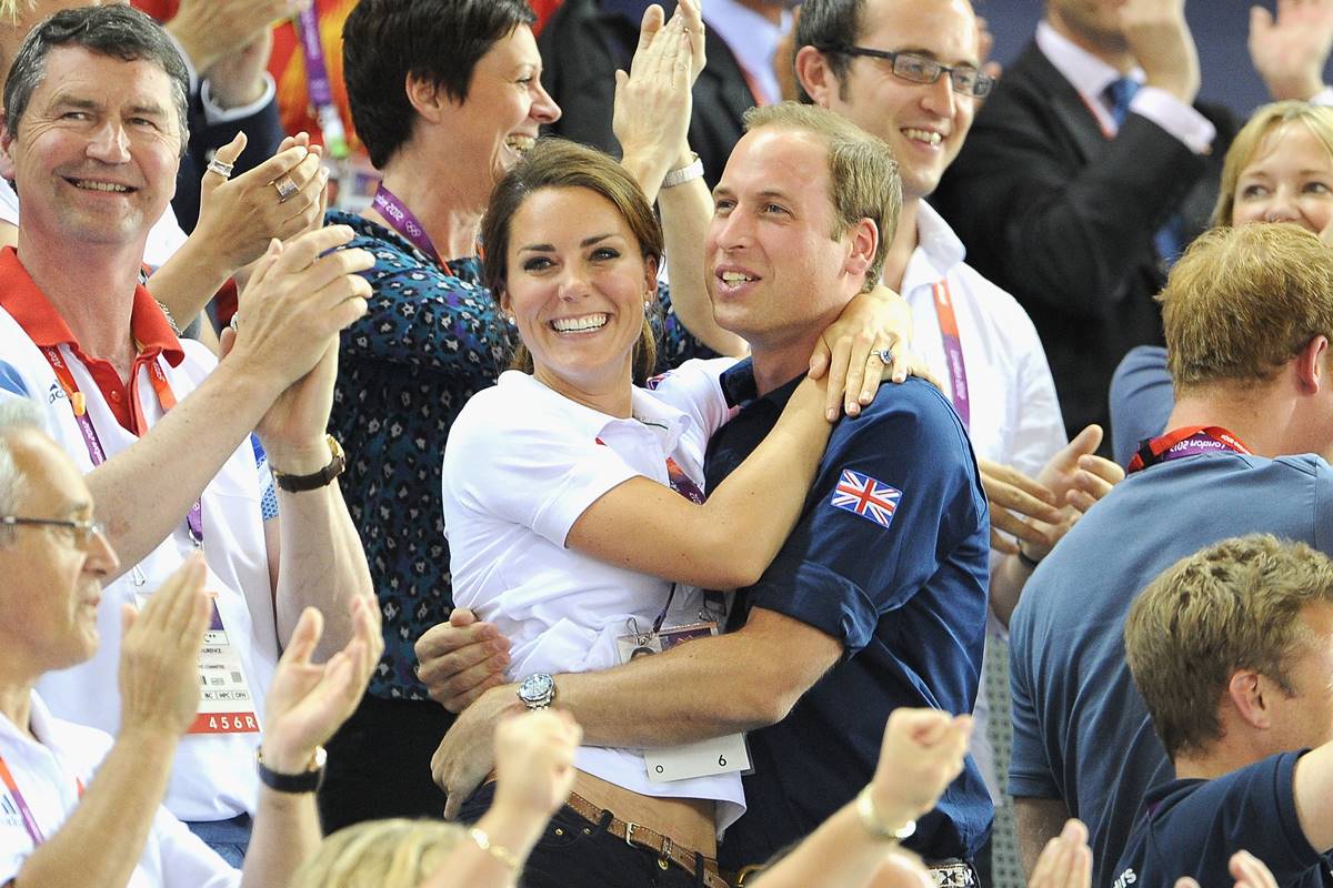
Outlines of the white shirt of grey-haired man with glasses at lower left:
{"label": "white shirt of grey-haired man with glasses at lower left", "polygon": [[[111,751],[112,739],[95,728],[63,722],[32,695],[31,734],[0,715],[0,759],[13,776],[24,805],[45,840],[64,825]],[[19,875],[36,851],[20,815],[19,800],[0,784],[0,884]],[[148,843],[127,888],[233,888],[241,873],[192,833],[167,808],[159,807]]]}

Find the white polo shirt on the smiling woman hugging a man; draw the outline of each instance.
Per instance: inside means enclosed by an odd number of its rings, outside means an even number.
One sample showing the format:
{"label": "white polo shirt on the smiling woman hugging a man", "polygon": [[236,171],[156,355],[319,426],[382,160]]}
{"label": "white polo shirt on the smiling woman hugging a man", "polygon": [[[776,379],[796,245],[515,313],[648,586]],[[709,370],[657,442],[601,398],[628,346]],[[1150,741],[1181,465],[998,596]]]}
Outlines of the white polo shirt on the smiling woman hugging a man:
{"label": "white polo shirt on the smiling woman hugging a man", "polygon": [[[702,487],[708,438],[730,415],[718,375],[733,363],[686,361],[656,390],[635,389],[629,419],[513,370],[468,401],[444,450],[453,600],[512,642],[511,680],[617,666],[616,639],[651,630],[668,598],[664,626],[696,622],[698,590],[672,596],[672,583],[567,549],[565,537],[629,478],[666,485],[668,457]],[[649,783],[641,754],[604,747],[581,747],[575,763],[641,795],[716,800],[718,832],[745,811],[738,774]]]}

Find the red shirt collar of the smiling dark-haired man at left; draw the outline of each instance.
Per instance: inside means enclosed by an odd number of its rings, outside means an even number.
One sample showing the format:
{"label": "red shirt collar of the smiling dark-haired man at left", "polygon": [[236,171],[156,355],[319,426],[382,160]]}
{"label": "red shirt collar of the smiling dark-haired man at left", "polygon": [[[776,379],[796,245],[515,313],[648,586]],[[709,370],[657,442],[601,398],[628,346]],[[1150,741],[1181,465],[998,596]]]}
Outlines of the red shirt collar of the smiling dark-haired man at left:
{"label": "red shirt collar of the smiling dark-haired man at left", "polygon": [[[39,347],[69,345],[79,349],[79,341],[69,325],[37,289],[12,246],[0,250],[0,308],[19,322],[33,345]],[[144,286],[135,288],[129,333],[139,343],[139,353],[143,355],[161,354],[173,367],[185,359],[185,351],[180,346],[180,339],[172,333],[167,316]]]}

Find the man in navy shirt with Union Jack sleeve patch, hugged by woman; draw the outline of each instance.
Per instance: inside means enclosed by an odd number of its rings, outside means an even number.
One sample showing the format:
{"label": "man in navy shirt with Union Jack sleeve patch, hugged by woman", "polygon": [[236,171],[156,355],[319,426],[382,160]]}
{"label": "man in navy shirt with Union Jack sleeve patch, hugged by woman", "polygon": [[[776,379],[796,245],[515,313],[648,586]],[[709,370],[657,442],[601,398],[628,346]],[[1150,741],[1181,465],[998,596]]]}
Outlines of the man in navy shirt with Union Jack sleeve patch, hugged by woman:
{"label": "man in navy shirt with Union Jack sleeve patch, hugged by woman", "polygon": [[[901,204],[888,146],[848,121],[794,104],[746,121],[714,189],[705,254],[717,321],[753,358],[724,377],[740,413],[709,447],[709,486],[773,427],[824,326],[878,280]],[[734,631],[555,676],[552,704],[597,746],[750,731],[748,813],[728,829],[721,864],[761,864],[869,781],[894,708],[972,711],[988,550],[985,494],[957,414],[921,379],[885,386],[838,422],[796,530],[737,594]],[[517,706],[507,686],[463,712],[436,756],[451,795],[485,774],[489,726]],[[990,819],[969,759],[905,844],[928,861],[970,861]],[[954,884],[965,873],[954,863]]]}

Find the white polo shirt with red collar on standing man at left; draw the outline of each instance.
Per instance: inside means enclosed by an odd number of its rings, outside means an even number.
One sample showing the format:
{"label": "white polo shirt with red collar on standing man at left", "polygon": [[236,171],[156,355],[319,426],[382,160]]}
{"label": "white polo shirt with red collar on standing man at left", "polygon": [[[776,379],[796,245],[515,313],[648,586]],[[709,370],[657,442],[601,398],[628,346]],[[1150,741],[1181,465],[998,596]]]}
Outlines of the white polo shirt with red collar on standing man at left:
{"label": "white polo shirt with red collar on standing man at left", "polygon": [[[16,320],[23,318],[23,324]],[[27,329],[25,329],[27,328]],[[177,401],[185,398],[216,366],[216,358],[197,342],[179,342],[167,326],[161,309],[148,290],[135,294],[132,329],[143,354],[160,351],[152,361],[135,365],[132,385],[112,387],[117,405],[136,402],[131,410],[144,431],[163,417],[149,381],[149,366],[165,375]],[[139,437],[121,426],[107,401],[105,369],[91,370],[76,354],[68,326],[55,312],[12,248],[0,250],[0,397],[24,397],[47,414],[47,430],[84,473],[93,462],[69,401],[37,347],[56,343],[75,383],[87,399],[88,417],[107,453],[115,458]],[[172,359],[179,362],[172,366]],[[97,375],[95,375],[95,371]],[[103,386],[99,386],[99,375]],[[111,371],[115,375],[115,371]],[[268,549],[261,518],[261,489],[255,451],[249,441],[228,458],[201,498],[204,555],[208,588],[217,592],[217,610],[228,638],[240,650],[240,660],[253,708],[263,715],[264,694],[277,664],[277,631],[268,575]],[[107,586],[97,608],[101,635],[96,655],[73,668],[48,672],[39,690],[57,716],[88,724],[107,734],[120,728],[120,695],[116,684],[120,660],[121,604],[136,603],[136,594],[151,594],[195,551],[184,517],[171,535],[139,564]],[[255,751],[260,735],[191,734],[176,752],[167,792],[167,807],[181,820],[225,820],[253,813],[259,797]]]}

